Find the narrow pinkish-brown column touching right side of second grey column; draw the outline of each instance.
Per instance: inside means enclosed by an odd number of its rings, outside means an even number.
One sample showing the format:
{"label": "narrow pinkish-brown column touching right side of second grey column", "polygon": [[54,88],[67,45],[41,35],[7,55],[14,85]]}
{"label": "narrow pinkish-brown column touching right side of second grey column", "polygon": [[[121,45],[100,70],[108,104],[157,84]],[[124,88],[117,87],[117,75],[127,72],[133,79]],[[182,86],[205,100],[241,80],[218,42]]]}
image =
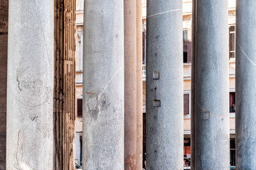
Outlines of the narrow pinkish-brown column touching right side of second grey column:
{"label": "narrow pinkish-brown column touching right side of second grey column", "polygon": [[136,0],[124,0],[124,169],[136,169],[137,18]]}

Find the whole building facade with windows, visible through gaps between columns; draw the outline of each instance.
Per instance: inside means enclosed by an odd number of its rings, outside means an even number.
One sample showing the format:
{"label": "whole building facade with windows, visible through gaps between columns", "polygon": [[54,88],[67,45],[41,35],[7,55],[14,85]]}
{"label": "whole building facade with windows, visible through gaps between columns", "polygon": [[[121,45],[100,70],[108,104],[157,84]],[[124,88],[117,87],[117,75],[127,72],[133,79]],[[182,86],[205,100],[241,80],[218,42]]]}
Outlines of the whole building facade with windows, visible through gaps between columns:
{"label": "whole building facade with windows, visible through gaps between columns", "polygon": [[[228,1],[229,24],[229,91],[230,91],[230,165],[235,166],[235,0]],[[83,8],[84,0],[76,1],[75,35],[75,162],[82,158],[82,44],[83,44]],[[144,153],[146,152],[146,0],[142,0],[143,29],[143,118]],[[192,1],[183,0],[183,132],[184,157],[191,157],[191,58],[192,58]],[[171,31],[171,30],[169,30]],[[144,154],[145,155],[145,154]]]}

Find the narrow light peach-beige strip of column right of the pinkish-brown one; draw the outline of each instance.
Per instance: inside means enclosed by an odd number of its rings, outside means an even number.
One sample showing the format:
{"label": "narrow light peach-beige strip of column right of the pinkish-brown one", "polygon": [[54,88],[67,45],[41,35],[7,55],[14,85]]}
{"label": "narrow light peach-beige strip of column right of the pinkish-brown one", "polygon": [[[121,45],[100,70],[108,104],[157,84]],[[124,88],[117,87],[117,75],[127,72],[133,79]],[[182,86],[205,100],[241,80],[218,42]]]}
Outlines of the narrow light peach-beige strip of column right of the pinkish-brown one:
{"label": "narrow light peach-beige strip of column right of the pinkish-brown one", "polygon": [[137,9],[137,161],[136,169],[142,169],[143,152],[143,81],[142,81],[142,0],[136,1]]}

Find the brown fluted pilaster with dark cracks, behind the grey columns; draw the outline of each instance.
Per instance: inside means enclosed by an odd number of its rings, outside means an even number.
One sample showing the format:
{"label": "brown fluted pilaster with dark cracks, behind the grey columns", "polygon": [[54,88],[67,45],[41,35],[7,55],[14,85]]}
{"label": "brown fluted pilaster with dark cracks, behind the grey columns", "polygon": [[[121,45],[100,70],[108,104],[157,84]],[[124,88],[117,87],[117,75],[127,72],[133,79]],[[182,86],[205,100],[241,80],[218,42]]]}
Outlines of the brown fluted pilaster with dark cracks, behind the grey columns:
{"label": "brown fluted pilaster with dark cracks, behind the grey columns", "polygon": [[54,16],[55,169],[75,169],[75,0],[55,0]]}

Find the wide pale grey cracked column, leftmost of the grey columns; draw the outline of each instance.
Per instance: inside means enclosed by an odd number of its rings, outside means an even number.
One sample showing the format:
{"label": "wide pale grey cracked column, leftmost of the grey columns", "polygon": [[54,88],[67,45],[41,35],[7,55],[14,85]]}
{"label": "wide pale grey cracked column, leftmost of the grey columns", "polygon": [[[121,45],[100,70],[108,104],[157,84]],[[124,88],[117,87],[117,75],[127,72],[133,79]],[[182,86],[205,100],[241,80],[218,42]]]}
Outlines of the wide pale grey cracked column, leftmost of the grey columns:
{"label": "wide pale grey cracked column, leftmost of the grey columns", "polygon": [[9,0],[6,169],[53,169],[53,1]]}

